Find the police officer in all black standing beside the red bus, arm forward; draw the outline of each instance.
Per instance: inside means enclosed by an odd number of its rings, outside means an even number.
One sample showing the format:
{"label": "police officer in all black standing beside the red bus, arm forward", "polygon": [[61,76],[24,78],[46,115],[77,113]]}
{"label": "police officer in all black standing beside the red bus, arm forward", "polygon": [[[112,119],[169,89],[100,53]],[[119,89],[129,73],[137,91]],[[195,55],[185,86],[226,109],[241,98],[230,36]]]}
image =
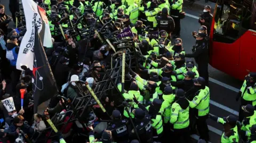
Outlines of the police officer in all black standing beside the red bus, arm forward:
{"label": "police officer in all black standing beside the red bus, arm forward", "polygon": [[206,34],[198,32],[196,36],[196,46],[192,54],[185,54],[186,57],[194,57],[198,64],[198,72],[205,79],[206,85],[209,85],[208,74],[208,46],[205,40]]}

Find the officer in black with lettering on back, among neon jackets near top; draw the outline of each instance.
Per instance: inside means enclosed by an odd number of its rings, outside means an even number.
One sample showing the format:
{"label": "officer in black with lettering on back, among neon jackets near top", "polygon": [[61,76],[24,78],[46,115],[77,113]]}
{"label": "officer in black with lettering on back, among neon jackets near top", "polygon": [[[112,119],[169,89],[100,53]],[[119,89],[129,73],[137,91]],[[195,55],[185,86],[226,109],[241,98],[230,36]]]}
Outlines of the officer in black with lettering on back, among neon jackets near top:
{"label": "officer in black with lettering on back, among neon jackets near top", "polygon": [[162,10],[162,13],[160,16],[156,16],[157,21],[157,29],[165,30],[167,33],[172,33],[174,30],[175,24],[171,16],[168,16],[168,9],[165,7]]}

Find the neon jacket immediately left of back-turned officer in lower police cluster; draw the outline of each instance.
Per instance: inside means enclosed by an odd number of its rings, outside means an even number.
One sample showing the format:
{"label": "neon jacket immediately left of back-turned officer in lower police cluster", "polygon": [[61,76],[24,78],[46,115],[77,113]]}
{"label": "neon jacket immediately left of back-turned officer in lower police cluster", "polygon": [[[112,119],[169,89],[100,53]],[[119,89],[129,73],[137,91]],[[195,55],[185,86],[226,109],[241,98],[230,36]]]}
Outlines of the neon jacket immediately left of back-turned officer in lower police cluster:
{"label": "neon jacket immediately left of back-turned officer in lower police cluster", "polygon": [[175,95],[170,94],[170,95],[163,95],[164,102],[162,103],[162,106],[160,108],[160,113],[164,117],[164,123],[168,123],[170,121],[171,117],[171,112],[172,112],[172,102],[174,101]]}

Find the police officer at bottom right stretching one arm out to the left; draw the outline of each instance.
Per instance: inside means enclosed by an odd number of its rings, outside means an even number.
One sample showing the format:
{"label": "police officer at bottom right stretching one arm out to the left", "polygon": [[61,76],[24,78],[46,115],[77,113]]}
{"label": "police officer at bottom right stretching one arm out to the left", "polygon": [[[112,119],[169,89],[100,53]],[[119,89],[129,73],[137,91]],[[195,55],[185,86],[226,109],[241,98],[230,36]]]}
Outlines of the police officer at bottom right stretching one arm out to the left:
{"label": "police officer at bottom right stretching one arm out to the left", "polygon": [[239,135],[238,135],[238,129],[237,129],[237,117],[234,115],[229,115],[227,117],[217,117],[212,114],[209,114],[210,119],[213,121],[216,121],[218,123],[223,124],[224,131],[221,135],[221,141],[220,142],[232,142],[232,143],[238,143]]}

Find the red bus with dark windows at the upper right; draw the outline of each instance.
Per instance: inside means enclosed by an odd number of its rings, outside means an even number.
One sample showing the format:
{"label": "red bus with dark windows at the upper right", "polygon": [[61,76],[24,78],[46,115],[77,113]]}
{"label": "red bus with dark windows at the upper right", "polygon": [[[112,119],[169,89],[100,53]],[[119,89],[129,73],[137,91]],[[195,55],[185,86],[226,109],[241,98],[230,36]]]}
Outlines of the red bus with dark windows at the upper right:
{"label": "red bus with dark windows at the upper right", "polygon": [[219,1],[210,32],[210,64],[237,79],[256,72],[256,1]]}

